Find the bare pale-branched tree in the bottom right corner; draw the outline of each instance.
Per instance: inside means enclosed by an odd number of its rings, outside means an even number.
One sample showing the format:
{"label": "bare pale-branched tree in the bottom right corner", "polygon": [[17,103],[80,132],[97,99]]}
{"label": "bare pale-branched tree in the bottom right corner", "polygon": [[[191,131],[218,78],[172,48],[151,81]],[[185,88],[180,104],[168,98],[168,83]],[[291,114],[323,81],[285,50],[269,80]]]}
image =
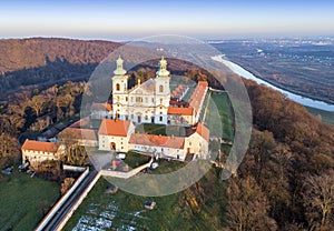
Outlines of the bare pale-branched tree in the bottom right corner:
{"label": "bare pale-branched tree in the bottom right corner", "polygon": [[306,174],[302,194],[310,230],[333,230],[334,170]]}

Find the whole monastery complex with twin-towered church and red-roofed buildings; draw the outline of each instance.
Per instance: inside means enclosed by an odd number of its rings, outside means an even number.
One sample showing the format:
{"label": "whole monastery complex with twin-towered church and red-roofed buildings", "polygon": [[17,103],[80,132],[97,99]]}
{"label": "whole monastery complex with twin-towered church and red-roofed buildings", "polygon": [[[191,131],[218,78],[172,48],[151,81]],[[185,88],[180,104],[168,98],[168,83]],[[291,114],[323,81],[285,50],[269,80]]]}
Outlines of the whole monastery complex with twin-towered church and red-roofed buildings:
{"label": "whole monastery complex with twin-towered church and red-roofed buildings", "polygon": [[[199,81],[189,91],[186,84],[178,84],[170,91],[170,72],[161,58],[156,77],[128,88],[128,76],[124,60],[119,57],[111,78],[111,103],[92,103],[90,120],[99,120],[98,130],[82,128],[87,118],[62,130],[57,140],[71,139],[85,147],[102,151],[137,151],[156,158],[184,161],[187,155],[206,159],[209,130],[200,121],[203,104],[207,94],[206,81]],[[186,94],[190,93],[187,101]],[[143,123],[179,127],[183,137],[157,135],[136,132]],[[85,125],[84,125],[85,127]],[[62,139],[59,139],[62,138]],[[31,164],[45,160],[58,160],[63,154],[61,142],[26,140],[22,145],[22,161]]]}

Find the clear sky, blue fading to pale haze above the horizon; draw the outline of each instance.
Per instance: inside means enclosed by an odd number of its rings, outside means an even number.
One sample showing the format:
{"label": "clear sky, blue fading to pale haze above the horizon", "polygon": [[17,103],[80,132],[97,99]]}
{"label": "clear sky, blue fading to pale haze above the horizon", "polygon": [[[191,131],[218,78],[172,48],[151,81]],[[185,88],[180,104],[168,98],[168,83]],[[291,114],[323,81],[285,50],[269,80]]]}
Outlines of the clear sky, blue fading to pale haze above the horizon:
{"label": "clear sky, blue fading to pale haze above the horizon", "polygon": [[0,2],[0,38],[130,40],[334,36],[330,0],[11,0]]}

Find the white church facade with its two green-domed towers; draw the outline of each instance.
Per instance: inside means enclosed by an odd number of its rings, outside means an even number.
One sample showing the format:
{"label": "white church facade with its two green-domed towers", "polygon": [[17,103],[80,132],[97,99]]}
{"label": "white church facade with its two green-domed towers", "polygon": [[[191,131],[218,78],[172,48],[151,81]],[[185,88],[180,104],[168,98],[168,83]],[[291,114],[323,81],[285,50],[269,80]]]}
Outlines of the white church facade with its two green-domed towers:
{"label": "white church facade with its two green-domed towers", "polygon": [[167,124],[167,111],[170,101],[170,76],[167,61],[159,61],[156,78],[128,90],[128,76],[118,58],[112,77],[112,117],[131,120],[135,123]]}

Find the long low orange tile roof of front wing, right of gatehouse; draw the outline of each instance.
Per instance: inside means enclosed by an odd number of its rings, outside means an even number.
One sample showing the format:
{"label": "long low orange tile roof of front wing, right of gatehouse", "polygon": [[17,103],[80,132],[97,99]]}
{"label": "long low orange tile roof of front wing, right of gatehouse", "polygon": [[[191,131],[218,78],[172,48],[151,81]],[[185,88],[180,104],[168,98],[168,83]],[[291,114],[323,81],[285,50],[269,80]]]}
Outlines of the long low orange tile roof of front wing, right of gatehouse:
{"label": "long low orange tile roof of front wing, right of gatehouse", "polygon": [[185,144],[185,138],[132,133],[129,143],[183,149]]}

